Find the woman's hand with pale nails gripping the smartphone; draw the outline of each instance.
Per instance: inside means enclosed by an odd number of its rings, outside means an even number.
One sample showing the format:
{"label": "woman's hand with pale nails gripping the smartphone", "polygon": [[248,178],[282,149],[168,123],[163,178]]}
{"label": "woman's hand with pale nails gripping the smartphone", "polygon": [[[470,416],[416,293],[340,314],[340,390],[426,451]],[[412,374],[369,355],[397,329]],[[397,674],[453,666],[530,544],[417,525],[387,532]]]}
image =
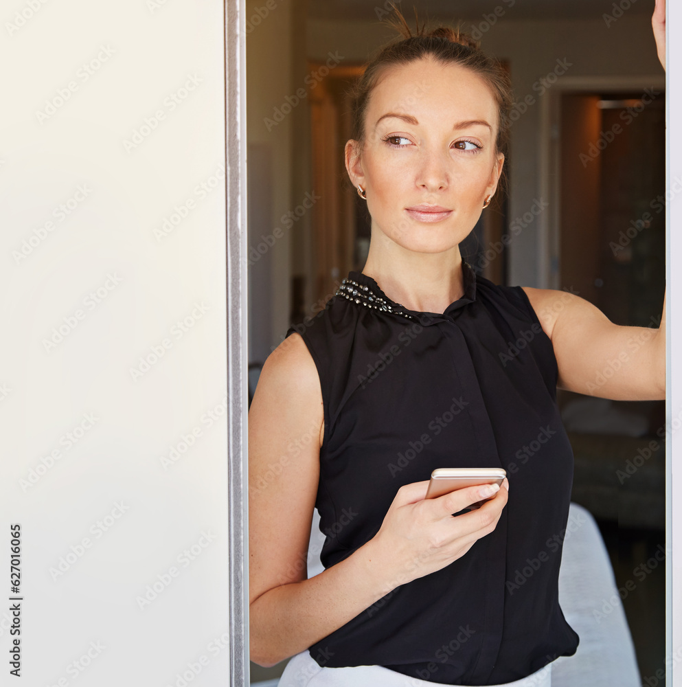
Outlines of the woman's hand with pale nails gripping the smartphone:
{"label": "woman's hand with pale nails gripping the smartphone", "polygon": [[489,497],[485,486],[468,486],[436,499],[424,499],[428,481],[402,486],[373,539],[372,557],[385,575],[386,593],[456,561],[477,539],[497,526],[507,503],[505,478],[494,497],[480,508],[453,517],[453,513]]}

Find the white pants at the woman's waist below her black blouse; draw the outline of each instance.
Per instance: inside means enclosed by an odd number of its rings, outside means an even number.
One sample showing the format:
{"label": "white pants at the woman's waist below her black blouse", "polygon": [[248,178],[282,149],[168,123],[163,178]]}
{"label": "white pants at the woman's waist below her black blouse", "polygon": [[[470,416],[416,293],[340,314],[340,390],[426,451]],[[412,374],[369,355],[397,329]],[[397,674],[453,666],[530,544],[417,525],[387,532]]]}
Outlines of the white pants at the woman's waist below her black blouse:
{"label": "white pants at the woman's waist below her black blouse", "polygon": [[[382,666],[323,668],[306,649],[297,653],[286,664],[277,687],[443,687],[443,685],[402,675]],[[451,687],[466,687],[466,685]],[[549,663],[536,673],[520,680],[490,687],[552,687],[552,664]]]}

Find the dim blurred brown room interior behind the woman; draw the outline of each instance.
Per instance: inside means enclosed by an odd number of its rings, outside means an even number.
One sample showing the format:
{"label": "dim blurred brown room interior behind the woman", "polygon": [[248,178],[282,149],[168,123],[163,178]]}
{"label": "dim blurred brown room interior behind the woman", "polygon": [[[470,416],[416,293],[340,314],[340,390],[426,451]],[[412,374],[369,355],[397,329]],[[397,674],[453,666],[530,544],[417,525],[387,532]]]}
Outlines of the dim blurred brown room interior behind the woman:
{"label": "dim blurred brown room interior behind the woman", "polygon": [[[508,194],[495,196],[462,255],[496,283],[570,289],[611,321],[641,327],[658,326],[665,288],[666,93],[652,5],[402,3],[411,25],[413,6],[420,22],[461,21],[514,86]],[[288,326],[363,268],[370,227],[343,166],[347,91],[396,35],[380,23],[387,10],[247,2],[251,393]],[[597,519],[617,585],[636,583],[622,604],[644,679],[665,658],[665,565],[639,579],[666,541],[665,402],[568,392],[558,401],[576,457],[572,500]],[[251,664],[251,679],[283,665]]]}

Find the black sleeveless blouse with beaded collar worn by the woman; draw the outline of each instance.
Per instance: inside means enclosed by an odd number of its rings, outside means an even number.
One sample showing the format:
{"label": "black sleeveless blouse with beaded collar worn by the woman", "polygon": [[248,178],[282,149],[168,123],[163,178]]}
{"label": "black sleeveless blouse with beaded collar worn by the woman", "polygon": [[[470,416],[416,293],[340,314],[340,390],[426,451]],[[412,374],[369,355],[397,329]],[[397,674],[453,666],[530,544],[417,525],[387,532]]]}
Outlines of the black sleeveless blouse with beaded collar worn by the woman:
{"label": "black sleeveless blouse with beaded collar worn by the woman", "polygon": [[578,647],[558,603],[573,453],[552,342],[520,286],[463,270],[465,294],[444,313],[407,310],[351,271],[286,333],[302,335],[321,383],[325,567],[376,534],[400,486],[435,468],[502,467],[510,485],[493,532],[311,646],[322,666],[493,685]]}

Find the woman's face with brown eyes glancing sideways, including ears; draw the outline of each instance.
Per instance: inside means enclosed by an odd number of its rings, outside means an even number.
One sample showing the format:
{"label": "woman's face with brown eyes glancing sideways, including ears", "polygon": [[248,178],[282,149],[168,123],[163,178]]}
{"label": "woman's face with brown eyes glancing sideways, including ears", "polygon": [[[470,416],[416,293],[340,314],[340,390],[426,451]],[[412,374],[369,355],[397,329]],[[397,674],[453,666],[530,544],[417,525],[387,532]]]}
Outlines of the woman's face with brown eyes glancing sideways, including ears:
{"label": "woman's face with brown eyes glancing sideways, including ears", "polygon": [[410,251],[439,253],[473,229],[495,192],[497,106],[469,69],[432,58],[388,69],[370,95],[365,144],[346,144],[346,167],[362,185],[380,232]]}

